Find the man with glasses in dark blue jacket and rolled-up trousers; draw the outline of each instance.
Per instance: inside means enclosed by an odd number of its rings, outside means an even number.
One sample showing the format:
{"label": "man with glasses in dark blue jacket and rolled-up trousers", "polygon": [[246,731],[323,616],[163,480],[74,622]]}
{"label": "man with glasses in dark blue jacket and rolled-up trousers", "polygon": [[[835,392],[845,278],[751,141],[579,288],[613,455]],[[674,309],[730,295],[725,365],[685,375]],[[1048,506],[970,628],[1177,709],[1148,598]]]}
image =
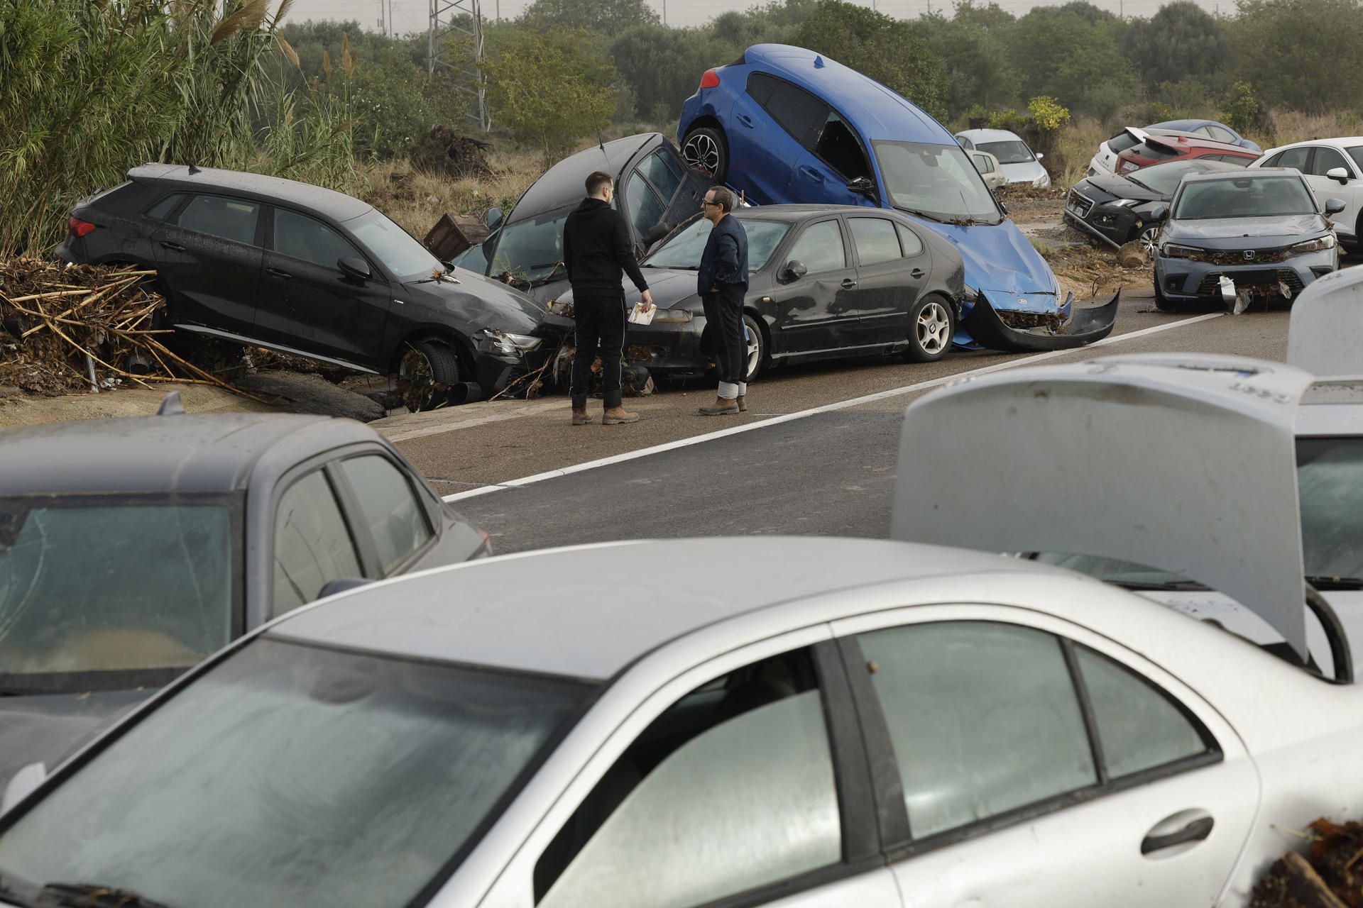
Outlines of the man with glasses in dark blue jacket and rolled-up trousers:
{"label": "man with glasses in dark blue jacket and rolled-up trousers", "polygon": [[747,344],[743,342],[743,295],[748,291],[748,234],[733,210],[733,193],[713,187],[705,193],[701,212],[714,225],[701,255],[696,293],[705,305],[705,323],[714,342],[720,391],[714,404],[701,407],[706,417],[748,408]]}

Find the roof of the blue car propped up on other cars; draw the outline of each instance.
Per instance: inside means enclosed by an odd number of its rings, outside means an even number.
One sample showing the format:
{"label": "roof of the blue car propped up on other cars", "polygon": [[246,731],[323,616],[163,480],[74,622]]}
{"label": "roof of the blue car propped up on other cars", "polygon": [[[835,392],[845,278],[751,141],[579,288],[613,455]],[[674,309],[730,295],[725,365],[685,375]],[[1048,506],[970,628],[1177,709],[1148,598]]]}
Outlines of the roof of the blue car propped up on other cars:
{"label": "roof of the blue car propped up on other cars", "polygon": [[867,140],[957,144],[946,127],[902,95],[814,50],[755,44],[743,53],[743,60],[823,98]]}

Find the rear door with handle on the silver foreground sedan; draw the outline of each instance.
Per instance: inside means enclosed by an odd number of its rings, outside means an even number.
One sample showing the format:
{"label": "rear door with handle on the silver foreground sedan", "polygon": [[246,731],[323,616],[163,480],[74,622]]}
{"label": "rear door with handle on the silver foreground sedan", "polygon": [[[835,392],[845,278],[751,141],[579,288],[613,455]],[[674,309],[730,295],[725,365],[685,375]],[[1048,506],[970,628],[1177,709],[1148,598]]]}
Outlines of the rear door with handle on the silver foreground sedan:
{"label": "rear door with handle on the silver foreground sedan", "polygon": [[935,606],[834,632],[872,760],[898,771],[908,833],[889,855],[906,905],[1219,903],[1259,780],[1191,689],[1029,610]]}

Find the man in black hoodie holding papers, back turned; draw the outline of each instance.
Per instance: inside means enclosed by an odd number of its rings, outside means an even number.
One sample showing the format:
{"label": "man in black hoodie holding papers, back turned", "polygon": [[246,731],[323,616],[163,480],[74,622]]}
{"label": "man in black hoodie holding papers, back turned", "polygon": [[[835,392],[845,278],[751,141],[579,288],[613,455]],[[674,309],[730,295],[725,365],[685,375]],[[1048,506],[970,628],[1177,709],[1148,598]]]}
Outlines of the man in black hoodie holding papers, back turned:
{"label": "man in black hoodie holding papers, back turned", "polygon": [[572,283],[572,317],[577,321],[577,353],[572,357],[572,425],[592,422],[587,388],[592,363],[601,354],[601,423],[637,422],[639,414],[620,406],[620,362],[624,357],[624,283],[622,270],[643,294],[643,308],[653,294],[634,260],[630,230],[611,207],[615,181],[600,170],[587,177],[587,197],[563,223],[563,267]]}

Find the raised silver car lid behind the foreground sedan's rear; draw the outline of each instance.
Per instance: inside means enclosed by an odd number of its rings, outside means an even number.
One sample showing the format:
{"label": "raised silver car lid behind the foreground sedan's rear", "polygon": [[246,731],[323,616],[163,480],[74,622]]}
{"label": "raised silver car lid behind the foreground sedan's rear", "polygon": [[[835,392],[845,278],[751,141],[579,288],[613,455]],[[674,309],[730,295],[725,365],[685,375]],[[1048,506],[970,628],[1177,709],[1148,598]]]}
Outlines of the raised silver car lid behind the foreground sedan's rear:
{"label": "raised silver car lid behind the foreground sedan's rear", "polygon": [[1214,354],[962,380],[905,411],[890,536],[1172,570],[1251,609],[1304,658],[1293,422],[1310,384]]}

